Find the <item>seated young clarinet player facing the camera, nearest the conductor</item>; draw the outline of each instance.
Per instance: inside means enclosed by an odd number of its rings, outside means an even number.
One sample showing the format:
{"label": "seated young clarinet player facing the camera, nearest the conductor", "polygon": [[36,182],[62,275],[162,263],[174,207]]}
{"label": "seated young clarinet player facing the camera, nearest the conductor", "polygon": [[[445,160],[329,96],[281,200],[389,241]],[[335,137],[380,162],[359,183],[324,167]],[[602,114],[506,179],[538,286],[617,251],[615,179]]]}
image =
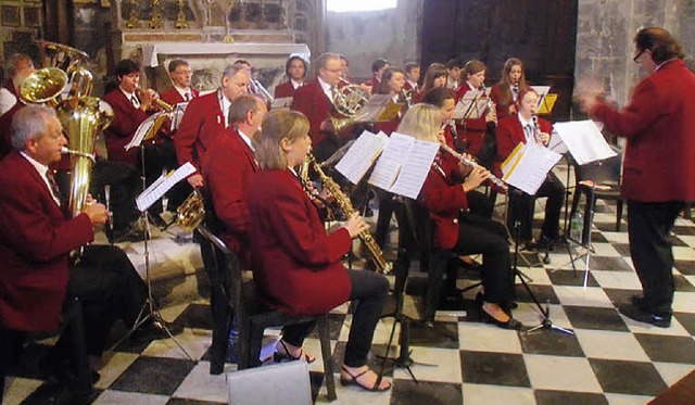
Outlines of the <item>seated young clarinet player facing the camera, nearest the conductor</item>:
{"label": "seated young clarinet player facing the camera, nearest the conductor", "polygon": [[[539,119],[539,128],[533,125],[533,115],[538,111],[539,94],[532,88],[526,88],[519,92],[517,100],[518,114],[510,115],[500,122],[497,127],[497,164],[504,162],[519,142],[536,142],[547,145],[551,139],[553,126],[543,118]],[[498,169],[497,169],[498,172]],[[500,172],[498,172],[500,173]],[[563,210],[565,186],[553,172],[548,173],[535,195],[526,193],[513,193],[510,195],[510,210],[507,217],[509,229],[518,218],[520,223],[520,243],[526,249],[535,249],[539,243],[532,235],[533,205],[536,197],[547,197],[545,203],[545,219],[541,229],[541,245],[552,245],[559,240],[559,220]]]}

